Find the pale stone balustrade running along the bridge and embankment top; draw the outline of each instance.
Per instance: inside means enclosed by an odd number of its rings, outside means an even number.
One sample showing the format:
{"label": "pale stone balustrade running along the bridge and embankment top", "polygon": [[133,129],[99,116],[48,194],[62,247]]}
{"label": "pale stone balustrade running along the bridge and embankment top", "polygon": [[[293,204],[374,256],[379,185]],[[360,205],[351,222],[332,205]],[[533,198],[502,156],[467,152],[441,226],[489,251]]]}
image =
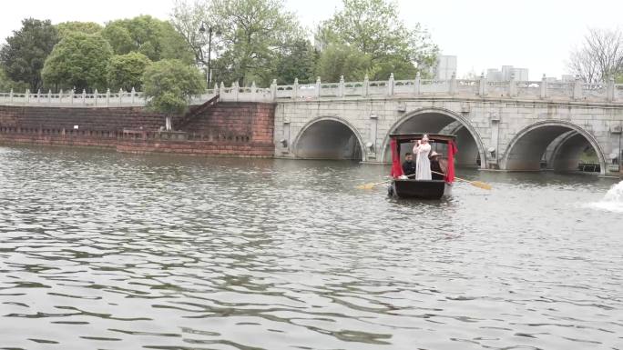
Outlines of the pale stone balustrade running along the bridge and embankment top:
{"label": "pale stone balustrade running along the bridge and embankment top", "polygon": [[[270,87],[239,86],[237,83],[227,87],[222,83],[208,89],[205,94],[193,96],[190,104],[200,105],[214,95],[221,101],[274,102],[318,99],[383,98],[383,97],[475,97],[475,98],[513,98],[524,100],[585,101],[588,103],[623,104],[623,84],[615,84],[613,79],[597,85],[574,82],[539,81],[488,81],[485,76],[478,80],[422,79],[418,74],[414,80],[394,80],[393,75],[386,81],[370,81],[367,76],[361,82],[322,83],[320,78],[313,84],[299,84],[295,79],[292,85]],[[47,105],[62,107],[117,107],[143,106],[146,100],[142,93],[132,89],[112,93],[77,94],[74,91],[59,93],[0,93],[0,105]]]}

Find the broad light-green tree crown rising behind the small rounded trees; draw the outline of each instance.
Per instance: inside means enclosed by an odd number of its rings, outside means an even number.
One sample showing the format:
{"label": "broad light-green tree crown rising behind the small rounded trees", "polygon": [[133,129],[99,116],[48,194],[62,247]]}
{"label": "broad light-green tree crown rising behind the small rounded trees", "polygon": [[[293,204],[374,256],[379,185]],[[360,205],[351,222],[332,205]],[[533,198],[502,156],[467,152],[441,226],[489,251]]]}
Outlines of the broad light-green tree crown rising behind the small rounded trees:
{"label": "broad light-green tree crown rising behind the small rounded trees", "polygon": [[175,28],[149,15],[109,22],[102,35],[117,55],[138,52],[152,61],[180,59],[192,62],[192,52]]}

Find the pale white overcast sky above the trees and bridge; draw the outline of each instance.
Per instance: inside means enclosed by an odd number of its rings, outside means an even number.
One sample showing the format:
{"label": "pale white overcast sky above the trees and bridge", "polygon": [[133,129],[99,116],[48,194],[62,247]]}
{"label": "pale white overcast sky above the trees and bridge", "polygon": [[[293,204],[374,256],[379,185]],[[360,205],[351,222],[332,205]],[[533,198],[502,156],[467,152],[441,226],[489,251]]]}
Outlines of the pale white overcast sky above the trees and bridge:
{"label": "pale white overcast sky above the trees and bridge", "polygon": [[[335,0],[285,0],[301,23],[317,25],[332,15]],[[458,75],[515,65],[530,79],[567,73],[565,60],[588,27],[623,26],[623,0],[397,0],[407,25],[421,23],[443,55],[458,56]],[[3,3],[0,38],[11,35],[24,17],[94,21],[134,15],[167,19],[172,0],[30,0]],[[623,29],[623,28],[622,28]]]}

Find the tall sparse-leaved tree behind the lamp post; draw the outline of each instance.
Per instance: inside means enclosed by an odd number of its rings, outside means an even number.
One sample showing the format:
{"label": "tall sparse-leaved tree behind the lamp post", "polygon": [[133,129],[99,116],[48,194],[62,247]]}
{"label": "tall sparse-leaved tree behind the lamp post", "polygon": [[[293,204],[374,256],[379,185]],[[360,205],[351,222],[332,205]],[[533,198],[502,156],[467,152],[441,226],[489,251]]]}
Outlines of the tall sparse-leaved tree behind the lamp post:
{"label": "tall sparse-leaved tree behind the lamp post", "polygon": [[207,0],[194,6],[182,1],[173,11],[172,23],[203,65],[208,63],[208,43],[199,27],[218,25],[220,35],[212,43],[219,57],[212,62],[217,81],[266,84],[280,55],[305,36],[297,18],[284,8],[282,0]]}

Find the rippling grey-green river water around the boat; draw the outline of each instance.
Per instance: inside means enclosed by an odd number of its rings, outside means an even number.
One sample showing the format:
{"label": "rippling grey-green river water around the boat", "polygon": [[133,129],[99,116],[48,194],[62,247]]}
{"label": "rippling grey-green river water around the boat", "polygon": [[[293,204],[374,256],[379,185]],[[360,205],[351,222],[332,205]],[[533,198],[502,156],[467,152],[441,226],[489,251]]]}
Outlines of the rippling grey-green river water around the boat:
{"label": "rippling grey-green river water around the boat", "polygon": [[378,165],[0,164],[0,348],[623,348],[616,180],[459,171],[494,189],[421,202],[355,189]]}

